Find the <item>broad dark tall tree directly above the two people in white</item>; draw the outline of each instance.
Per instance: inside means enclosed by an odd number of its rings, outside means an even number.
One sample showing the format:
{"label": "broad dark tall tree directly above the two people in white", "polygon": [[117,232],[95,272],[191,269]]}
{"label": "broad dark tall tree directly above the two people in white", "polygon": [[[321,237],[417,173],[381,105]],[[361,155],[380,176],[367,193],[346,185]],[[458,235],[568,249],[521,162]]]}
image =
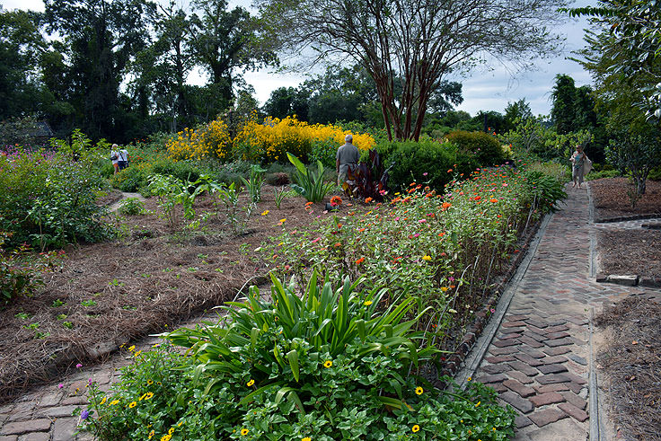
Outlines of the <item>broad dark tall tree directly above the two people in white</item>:
{"label": "broad dark tall tree directly above the two people in white", "polygon": [[[49,31],[69,44],[68,81],[76,125],[93,138],[123,137],[119,84],[145,45],[145,0],[45,0]],[[121,139],[122,141],[124,139]]]}

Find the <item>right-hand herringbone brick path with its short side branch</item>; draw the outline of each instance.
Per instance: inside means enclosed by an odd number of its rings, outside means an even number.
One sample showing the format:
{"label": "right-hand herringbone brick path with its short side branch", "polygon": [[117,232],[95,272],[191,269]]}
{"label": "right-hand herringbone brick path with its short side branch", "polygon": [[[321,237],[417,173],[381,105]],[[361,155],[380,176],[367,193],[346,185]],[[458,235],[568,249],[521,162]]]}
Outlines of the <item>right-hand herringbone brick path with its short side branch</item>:
{"label": "right-hand herringbone brick path with its short side branch", "polygon": [[518,410],[517,440],[589,438],[590,311],[646,292],[589,278],[592,227],[586,190],[568,189],[478,369]]}

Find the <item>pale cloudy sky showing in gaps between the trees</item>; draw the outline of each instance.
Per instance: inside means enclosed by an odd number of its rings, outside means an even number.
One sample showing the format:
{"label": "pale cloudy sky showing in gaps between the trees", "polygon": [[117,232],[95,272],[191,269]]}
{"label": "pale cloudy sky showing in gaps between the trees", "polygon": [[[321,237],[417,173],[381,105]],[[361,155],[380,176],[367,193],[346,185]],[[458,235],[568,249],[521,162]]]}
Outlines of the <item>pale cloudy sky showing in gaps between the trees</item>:
{"label": "pale cloudy sky showing in gaps between the trees", "polygon": [[[230,2],[248,3],[243,0]],[[577,0],[574,6],[595,4],[596,0]],[[43,11],[42,0],[0,0],[4,10],[19,8]],[[534,115],[548,115],[551,112],[551,89],[555,84],[555,75],[566,74],[574,78],[577,87],[591,84],[590,76],[576,62],[567,59],[571,51],[583,46],[583,29],[586,20],[569,20],[557,28],[557,32],[567,37],[565,51],[560,57],[538,60],[537,69],[512,75],[503,66],[491,66],[492,70],[480,69],[473,71],[467,77],[447,78],[463,84],[463,103],[456,107],[475,115],[480,110],[496,110],[503,112],[508,102],[522,98],[530,104]],[[272,69],[261,69],[258,72],[247,72],[244,78],[255,89],[256,98],[263,104],[269,99],[271,91],[278,87],[296,87],[306,76],[301,74],[278,74]],[[204,84],[206,77],[194,72],[189,77],[191,84]]]}

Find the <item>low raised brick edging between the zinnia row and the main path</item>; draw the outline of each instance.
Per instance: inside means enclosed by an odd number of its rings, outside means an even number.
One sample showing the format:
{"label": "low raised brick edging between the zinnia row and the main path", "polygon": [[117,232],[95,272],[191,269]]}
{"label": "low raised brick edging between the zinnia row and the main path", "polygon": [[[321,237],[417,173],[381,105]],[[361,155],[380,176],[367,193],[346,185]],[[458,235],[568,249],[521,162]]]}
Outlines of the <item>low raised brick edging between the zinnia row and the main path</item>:
{"label": "low raised brick edging between the zinnia row and the main path", "polygon": [[525,254],[530,248],[530,244],[533,242],[533,237],[537,234],[540,226],[542,225],[542,218],[536,221],[534,224],[529,225],[530,230],[523,237],[523,243],[519,247],[519,252],[509,262],[507,271],[498,276],[500,281],[495,287],[489,288],[489,300],[487,303],[475,313],[475,320],[466,330],[466,333],[463,335],[462,343],[454,351],[454,354],[446,357],[445,365],[440,371],[440,375],[448,375],[454,377],[459,372],[459,367],[462,365],[465,358],[468,354],[471,353],[472,348],[475,346],[475,343],[480,337],[482,330],[489,322],[491,316],[491,309],[495,309],[500,300],[500,296],[505,291],[505,287],[509,281],[514,277],[516,269],[518,269],[521,261],[524,260]]}

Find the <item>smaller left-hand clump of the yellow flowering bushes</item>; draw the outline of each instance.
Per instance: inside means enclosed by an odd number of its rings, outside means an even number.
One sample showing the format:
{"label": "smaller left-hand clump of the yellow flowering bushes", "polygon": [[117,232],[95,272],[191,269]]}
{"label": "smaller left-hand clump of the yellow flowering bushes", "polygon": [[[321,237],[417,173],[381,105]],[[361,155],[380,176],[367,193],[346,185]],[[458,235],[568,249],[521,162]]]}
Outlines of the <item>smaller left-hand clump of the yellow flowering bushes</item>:
{"label": "smaller left-hand clump of the yellow flowering bushes", "polygon": [[198,128],[184,128],[176,137],[170,138],[165,146],[175,161],[202,159],[207,156],[229,160],[232,154],[232,138],[223,119],[215,119]]}

